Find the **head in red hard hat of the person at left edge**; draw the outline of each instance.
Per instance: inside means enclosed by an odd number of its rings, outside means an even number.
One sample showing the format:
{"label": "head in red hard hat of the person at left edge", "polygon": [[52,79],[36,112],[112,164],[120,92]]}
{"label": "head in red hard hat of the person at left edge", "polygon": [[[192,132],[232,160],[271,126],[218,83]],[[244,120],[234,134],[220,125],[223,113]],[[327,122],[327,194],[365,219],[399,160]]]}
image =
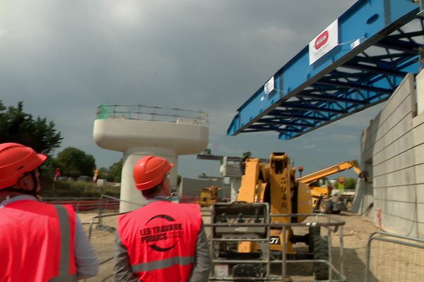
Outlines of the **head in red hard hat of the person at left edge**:
{"label": "head in red hard hat of the person at left edge", "polygon": [[37,168],[47,159],[32,148],[18,143],[0,144],[0,192],[36,194],[40,190]]}

